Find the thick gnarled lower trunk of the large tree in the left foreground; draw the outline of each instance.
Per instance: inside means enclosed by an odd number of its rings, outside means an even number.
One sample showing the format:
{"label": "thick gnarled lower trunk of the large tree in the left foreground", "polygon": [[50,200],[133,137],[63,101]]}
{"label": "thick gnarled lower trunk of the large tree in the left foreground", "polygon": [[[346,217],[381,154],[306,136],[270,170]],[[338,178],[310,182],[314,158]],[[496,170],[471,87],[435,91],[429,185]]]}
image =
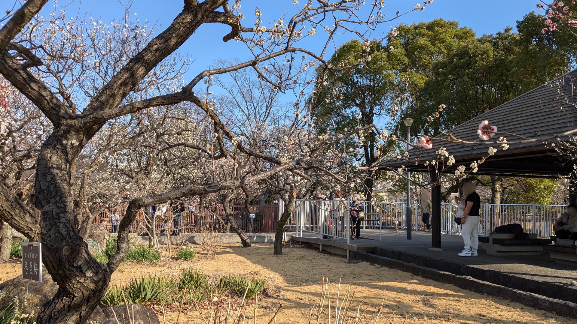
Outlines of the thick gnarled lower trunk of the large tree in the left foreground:
{"label": "thick gnarled lower trunk of the large tree in the left foreground", "polygon": [[42,260],[58,284],[56,295],[40,309],[38,324],[83,323],[110,282],[107,266],[92,257],[77,230],[71,183],[86,142],[84,133],[58,127],[38,156],[35,205],[40,210]]}

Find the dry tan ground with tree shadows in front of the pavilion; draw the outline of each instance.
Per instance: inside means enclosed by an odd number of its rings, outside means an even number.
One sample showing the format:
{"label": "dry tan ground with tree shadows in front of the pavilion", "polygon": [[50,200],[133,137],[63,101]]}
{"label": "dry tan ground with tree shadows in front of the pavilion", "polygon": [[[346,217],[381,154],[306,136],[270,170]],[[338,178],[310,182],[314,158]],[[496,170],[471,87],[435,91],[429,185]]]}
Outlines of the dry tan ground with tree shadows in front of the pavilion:
{"label": "dry tan ground with tree shadows in front of the pavilion", "polygon": [[[198,246],[195,248],[200,249]],[[310,308],[319,300],[322,291],[323,276],[328,277],[330,282],[333,321],[335,296],[339,278],[342,277],[341,297],[349,284],[351,293],[355,293],[351,312],[357,311],[361,300],[364,305],[362,309],[370,304],[361,323],[374,323],[376,309],[383,298],[384,310],[379,323],[577,323],[550,312],[465,291],[399,270],[367,262],[347,263],[345,258],[304,246],[286,247],[284,255],[273,256],[272,244],[254,244],[252,248],[227,244],[212,259],[198,253],[192,261],[163,259],[153,266],[125,262],[114,273],[112,282],[126,283],[133,277],[147,273],[176,274],[184,268],[198,269],[207,274],[243,274],[266,278],[268,286],[272,288],[272,296],[258,299],[257,323],[268,323],[279,303],[283,307],[276,323],[308,323]],[[0,282],[17,275],[20,275],[18,263],[16,266],[14,263],[0,265]],[[177,315],[174,310],[167,312],[166,323],[175,323]],[[162,316],[160,321],[162,323]],[[320,322],[327,323],[326,315]],[[204,321],[197,311],[186,310],[181,314],[179,323]]]}

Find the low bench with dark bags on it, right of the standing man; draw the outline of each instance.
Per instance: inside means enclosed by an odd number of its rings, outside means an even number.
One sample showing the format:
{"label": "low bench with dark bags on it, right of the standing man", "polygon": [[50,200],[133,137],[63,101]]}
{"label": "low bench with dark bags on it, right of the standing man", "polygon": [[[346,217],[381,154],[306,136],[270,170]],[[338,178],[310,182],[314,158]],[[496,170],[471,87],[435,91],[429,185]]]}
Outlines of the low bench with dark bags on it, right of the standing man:
{"label": "low bench with dark bags on it, right of the standing man", "polygon": [[529,240],[515,240],[515,234],[490,233],[489,237],[479,237],[479,242],[489,255],[536,255],[541,254],[548,239],[538,239],[537,234],[529,234]]}

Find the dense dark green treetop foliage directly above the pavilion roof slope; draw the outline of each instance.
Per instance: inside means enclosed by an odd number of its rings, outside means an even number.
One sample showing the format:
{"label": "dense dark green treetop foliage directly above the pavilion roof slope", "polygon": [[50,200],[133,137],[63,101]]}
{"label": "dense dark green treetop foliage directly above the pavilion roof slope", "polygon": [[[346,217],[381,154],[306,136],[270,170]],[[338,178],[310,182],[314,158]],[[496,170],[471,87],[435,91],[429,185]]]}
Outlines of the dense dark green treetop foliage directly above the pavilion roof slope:
{"label": "dense dark green treetop foliage directly above the pavilion roof slope", "polygon": [[[530,13],[517,22],[519,33],[507,27],[494,35],[452,42],[428,69],[415,70],[426,80],[415,92],[417,104],[407,112],[415,119],[413,129],[436,135],[567,71],[577,50],[575,37],[566,42],[562,33],[542,34],[545,20]],[[414,69],[415,64],[407,61],[407,66]],[[444,111],[425,127],[440,104]]]}

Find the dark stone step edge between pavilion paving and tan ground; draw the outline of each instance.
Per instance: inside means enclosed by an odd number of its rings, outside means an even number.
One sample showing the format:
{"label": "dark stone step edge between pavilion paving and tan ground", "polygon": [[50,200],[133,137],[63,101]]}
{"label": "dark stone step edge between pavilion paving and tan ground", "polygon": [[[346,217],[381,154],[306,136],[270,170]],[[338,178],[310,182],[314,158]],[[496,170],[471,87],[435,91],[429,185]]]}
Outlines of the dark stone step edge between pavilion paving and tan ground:
{"label": "dark stone step edge between pavilion paving and tan ground", "polygon": [[[466,289],[468,291],[485,293],[486,295],[511,300],[512,302],[517,302],[523,304],[524,306],[537,308],[538,310],[554,312],[557,315],[563,317],[577,318],[577,304],[567,302],[566,300],[555,299],[552,297],[538,295],[537,293],[533,292],[526,292],[520,289],[493,284],[491,282],[479,280],[471,276],[463,276],[450,272],[444,272],[441,270],[428,268],[426,266],[417,265],[415,263],[411,263],[410,261],[402,261],[365,252],[351,252],[351,258],[385,266],[391,269],[409,272],[415,276],[443,282],[444,284],[452,284],[456,287]],[[404,257],[404,259],[407,259],[407,257]],[[537,285],[537,287],[534,288],[538,287],[539,286]],[[559,293],[561,294],[561,292]]]}

